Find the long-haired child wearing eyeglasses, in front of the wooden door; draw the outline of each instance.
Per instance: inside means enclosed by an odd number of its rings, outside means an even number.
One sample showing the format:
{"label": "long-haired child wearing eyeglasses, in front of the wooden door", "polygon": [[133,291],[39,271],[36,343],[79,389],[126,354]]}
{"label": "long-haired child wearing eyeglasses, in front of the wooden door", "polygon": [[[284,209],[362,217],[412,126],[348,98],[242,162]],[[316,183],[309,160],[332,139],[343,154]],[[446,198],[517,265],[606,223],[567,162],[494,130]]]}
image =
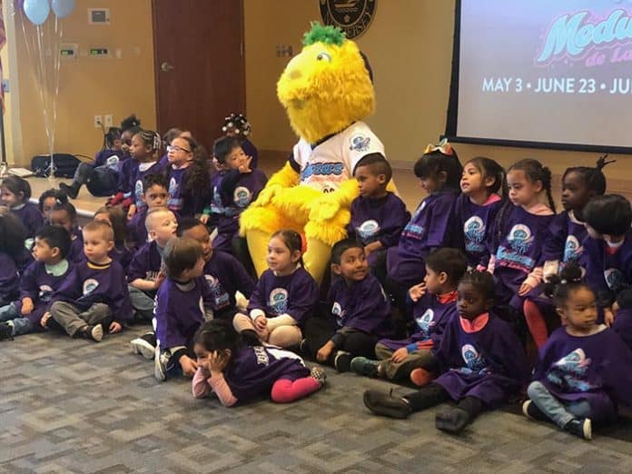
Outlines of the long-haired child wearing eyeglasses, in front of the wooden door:
{"label": "long-haired child wearing eyeglasses, in front of the wooden door", "polygon": [[181,135],[167,146],[167,207],[179,217],[202,213],[211,200],[209,162],[204,147],[193,138]]}

